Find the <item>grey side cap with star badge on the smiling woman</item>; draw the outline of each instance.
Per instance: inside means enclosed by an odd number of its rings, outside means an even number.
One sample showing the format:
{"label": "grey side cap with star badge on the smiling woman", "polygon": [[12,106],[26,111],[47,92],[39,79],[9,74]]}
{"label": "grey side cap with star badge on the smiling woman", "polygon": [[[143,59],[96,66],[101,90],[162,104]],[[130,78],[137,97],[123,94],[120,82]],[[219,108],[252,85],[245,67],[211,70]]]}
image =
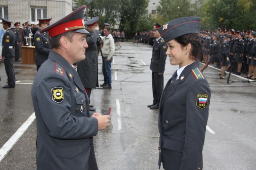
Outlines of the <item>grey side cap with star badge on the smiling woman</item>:
{"label": "grey side cap with star badge on the smiling woman", "polygon": [[165,42],[168,42],[185,34],[198,34],[200,27],[201,19],[199,17],[183,17],[163,24],[158,32]]}

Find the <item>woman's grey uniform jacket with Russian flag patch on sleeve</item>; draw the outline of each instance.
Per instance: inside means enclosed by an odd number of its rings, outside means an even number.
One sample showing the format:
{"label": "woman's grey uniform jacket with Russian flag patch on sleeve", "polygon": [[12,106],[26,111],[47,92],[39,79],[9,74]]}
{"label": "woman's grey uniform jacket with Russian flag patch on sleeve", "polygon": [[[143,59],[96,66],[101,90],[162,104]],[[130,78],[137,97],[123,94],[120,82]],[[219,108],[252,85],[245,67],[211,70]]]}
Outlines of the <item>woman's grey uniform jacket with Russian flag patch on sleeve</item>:
{"label": "woman's grey uniform jacket with Russian flag patch on sleeve", "polygon": [[[172,170],[202,170],[202,150],[209,114],[210,87],[194,62],[163,90],[158,128],[159,168],[163,157]],[[164,167],[165,168],[165,167]]]}

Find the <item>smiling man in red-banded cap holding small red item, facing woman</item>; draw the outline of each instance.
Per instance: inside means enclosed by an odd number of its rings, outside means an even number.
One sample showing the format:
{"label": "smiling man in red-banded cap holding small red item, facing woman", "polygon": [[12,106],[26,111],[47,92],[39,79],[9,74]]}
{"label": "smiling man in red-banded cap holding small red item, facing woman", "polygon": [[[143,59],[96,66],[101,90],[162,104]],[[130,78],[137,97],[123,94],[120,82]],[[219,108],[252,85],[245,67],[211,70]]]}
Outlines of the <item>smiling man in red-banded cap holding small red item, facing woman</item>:
{"label": "smiling man in red-banded cap holding small red item, facing woman", "polygon": [[110,116],[89,111],[88,96],[73,68],[85,59],[86,6],[40,30],[49,32],[52,50],[35,76],[31,95],[37,119],[37,169],[98,170],[93,136]]}

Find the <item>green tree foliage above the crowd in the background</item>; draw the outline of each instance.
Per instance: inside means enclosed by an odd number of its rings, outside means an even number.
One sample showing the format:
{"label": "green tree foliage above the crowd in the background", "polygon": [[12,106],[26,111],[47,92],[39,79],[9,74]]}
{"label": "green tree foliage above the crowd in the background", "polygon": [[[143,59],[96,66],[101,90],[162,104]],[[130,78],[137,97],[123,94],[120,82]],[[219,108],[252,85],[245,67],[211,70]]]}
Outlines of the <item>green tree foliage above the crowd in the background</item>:
{"label": "green tree foliage above the crowd in the background", "polygon": [[[160,0],[155,15],[147,15],[149,0],[75,0],[87,5],[87,19],[99,16],[101,29],[111,24],[132,38],[135,32],[152,30],[154,22],[165,24],[175,18],[201,17],[201,29],[255,30],[256,0]],[[87,1],[91,1],[88,3]],[[151,13],[149,11],[148,13]]]}

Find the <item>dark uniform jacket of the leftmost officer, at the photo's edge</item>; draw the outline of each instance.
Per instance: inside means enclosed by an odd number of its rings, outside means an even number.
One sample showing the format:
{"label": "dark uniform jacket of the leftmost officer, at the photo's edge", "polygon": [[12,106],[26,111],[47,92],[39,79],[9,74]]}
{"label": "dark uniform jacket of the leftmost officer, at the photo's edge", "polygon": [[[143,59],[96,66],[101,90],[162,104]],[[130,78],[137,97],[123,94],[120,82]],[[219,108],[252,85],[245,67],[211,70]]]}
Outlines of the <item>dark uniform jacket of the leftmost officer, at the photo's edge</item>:
{"label": "dark uniform jacket of the leftmost officer, at the photo's edge", "polygon": [[3,35],[3,49],[2,49],[2,57],[14,57],[14,49],[10,46],[15,45],[15,34],[11,29],[7,29],[5,34]]}

